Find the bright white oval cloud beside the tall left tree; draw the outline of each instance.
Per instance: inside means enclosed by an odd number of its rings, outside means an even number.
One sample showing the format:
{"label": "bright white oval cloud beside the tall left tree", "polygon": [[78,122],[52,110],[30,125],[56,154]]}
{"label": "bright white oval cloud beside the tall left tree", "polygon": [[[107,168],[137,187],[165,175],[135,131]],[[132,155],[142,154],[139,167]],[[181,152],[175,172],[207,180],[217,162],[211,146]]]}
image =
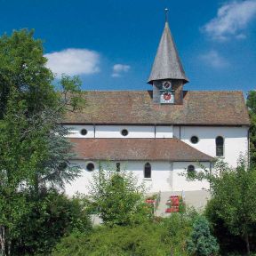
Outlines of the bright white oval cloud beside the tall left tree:
{"label": "bright white oval cloud beside the tall left tree", "polygon": [[58,77],[63,73],[75,76],[100,72],[100,54],[91,50],[69,48],[47,53],[44,57],[48,59],[46,67],[52,69]]}

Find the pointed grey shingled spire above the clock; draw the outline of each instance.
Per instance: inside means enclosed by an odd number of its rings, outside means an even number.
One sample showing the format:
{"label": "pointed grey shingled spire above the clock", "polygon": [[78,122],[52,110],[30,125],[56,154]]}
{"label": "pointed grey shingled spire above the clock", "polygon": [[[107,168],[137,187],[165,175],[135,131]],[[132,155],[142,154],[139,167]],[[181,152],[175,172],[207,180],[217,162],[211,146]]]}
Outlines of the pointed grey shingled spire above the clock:
{"label": "pointed grey shingled spire above the clock", "polygon": [[184,84],[188,83],[188,77],[182,67],[168,22],[165,22],[164,32],[157,49],[148,84],[153,84],[153,81],[162,79],[180,79],[184,81]]}

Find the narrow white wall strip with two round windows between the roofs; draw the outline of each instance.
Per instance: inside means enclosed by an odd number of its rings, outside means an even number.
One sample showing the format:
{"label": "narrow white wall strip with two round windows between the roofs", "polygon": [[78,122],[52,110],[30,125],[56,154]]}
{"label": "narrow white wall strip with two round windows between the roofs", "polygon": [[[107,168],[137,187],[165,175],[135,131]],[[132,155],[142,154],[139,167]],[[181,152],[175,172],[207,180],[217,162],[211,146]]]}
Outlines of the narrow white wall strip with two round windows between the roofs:
{"label": "narrow white wall strip with two round windows between the roofs", "polygon": [[[146,126],[146,125],[66,125],[70,129],[68,138],[172,138],[171,126]],[[94,134],[95,128],[95,134]],[[84,136],[80,132],[87,130]],[[126,129],[127,136],[123,136],[121,131]],[[155,132],[156,130],[156,132]]]}

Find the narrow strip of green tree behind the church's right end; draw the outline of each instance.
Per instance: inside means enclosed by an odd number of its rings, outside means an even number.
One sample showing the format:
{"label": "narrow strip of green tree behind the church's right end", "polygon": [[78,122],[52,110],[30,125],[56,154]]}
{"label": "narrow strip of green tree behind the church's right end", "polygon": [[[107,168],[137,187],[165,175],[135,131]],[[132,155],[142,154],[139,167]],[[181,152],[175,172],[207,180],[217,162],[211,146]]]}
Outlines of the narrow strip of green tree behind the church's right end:
{"label": "narrow strip of green tree behind the church's right end", "polygon": [[251,119],[250,158],[252,164],[256,164],[256,91],[248,92],[246,105]]}

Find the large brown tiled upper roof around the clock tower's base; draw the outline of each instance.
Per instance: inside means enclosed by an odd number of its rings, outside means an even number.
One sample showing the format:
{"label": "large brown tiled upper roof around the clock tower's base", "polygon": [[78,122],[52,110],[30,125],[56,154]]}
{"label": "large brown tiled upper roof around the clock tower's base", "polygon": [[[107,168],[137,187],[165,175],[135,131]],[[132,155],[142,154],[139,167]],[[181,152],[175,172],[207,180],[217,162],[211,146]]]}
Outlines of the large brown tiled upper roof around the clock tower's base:
{"label": "large brown tiled upper roof around the clock tower's base", "polygon": [[88,91],[70,124],[248,125],[243,92],[184,92],[183,105],[153,103],[152,91]]}

